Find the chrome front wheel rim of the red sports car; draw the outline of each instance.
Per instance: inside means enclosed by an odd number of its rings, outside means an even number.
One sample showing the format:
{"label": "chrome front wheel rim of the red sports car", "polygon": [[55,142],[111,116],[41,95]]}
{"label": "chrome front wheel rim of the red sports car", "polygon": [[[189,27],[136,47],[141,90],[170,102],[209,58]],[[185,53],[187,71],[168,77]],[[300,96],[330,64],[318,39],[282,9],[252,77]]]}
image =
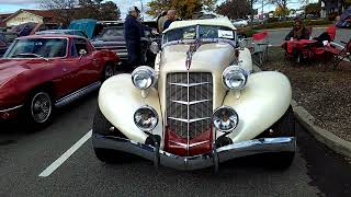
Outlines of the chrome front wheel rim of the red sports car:
{"label": "chrome front wheel rim of the red sports car", "polygon": [[46,92],[36,93],[31,101],[30,109],[35,123],[43,124],[47,121],[53,109],[50,96]]}

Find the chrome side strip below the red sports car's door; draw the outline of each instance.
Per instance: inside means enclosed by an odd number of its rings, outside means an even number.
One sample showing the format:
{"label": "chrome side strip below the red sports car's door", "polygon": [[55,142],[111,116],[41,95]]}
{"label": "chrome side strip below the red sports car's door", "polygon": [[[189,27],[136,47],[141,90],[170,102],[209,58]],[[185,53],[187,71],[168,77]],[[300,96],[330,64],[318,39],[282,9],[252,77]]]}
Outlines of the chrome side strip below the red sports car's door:
{"label": "chrome side strip below the red sports car's door", "polygon": [[57,100],[55,103],[55,107],[63,107],[71,102],[91,93],[92,91],[99,89],[100,86],[101,86],[101,82],[95,82],[95,83],[92,83],[88,86],[79,89],[78,91],[68,94],[65,97]]}

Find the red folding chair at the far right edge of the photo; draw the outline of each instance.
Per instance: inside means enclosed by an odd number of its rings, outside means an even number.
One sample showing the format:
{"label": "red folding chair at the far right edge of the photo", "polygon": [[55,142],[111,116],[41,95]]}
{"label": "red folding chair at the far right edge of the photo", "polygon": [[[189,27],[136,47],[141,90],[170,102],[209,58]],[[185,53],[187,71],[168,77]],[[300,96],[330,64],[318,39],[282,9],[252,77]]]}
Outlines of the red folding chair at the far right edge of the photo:
{"label": "red folding chair at the far right edge of the photo", "polygon": [[331,46],[326,47],[326,50],[333,56],[331,65],[333,69],[337,69],[343,60],[351,61],[351,39],[348,43],[341,43],[344,44],[344,46],[331,43]]}

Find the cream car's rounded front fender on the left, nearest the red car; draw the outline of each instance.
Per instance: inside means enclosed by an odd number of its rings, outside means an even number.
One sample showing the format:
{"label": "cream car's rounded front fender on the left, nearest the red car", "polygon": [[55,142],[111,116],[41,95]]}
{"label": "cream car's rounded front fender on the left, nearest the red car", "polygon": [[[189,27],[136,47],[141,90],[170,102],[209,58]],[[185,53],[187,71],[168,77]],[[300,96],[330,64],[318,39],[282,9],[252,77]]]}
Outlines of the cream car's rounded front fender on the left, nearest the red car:
{"label": "cream car's rounded front fender on the left, nearest the red car", "polygon": [[99,92],[99,107],[104,117],[128,139],[145,143],[147,135],[134,124],[134,113],[143,105],[155,108],[159,123],[152,134],[162,136],[162,115],[159,95],[154,88],[143,99],[141,91],[134,86],[131,74],[118,74],[107,79]]}

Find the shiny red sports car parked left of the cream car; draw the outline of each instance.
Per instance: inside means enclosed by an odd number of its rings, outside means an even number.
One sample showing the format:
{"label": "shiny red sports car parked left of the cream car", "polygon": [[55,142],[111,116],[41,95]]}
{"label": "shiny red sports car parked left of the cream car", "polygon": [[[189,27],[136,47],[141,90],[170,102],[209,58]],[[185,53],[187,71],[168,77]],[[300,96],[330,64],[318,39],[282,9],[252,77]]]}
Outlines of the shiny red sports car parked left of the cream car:
{"label": "shiny red sports car parked left of the cream car", "polygon": [[114,53],[95,50],[83,37],[20,37],[0,59],[0,120],[23,115],[43,127],[56,107],[95,90],[113,76]]}

